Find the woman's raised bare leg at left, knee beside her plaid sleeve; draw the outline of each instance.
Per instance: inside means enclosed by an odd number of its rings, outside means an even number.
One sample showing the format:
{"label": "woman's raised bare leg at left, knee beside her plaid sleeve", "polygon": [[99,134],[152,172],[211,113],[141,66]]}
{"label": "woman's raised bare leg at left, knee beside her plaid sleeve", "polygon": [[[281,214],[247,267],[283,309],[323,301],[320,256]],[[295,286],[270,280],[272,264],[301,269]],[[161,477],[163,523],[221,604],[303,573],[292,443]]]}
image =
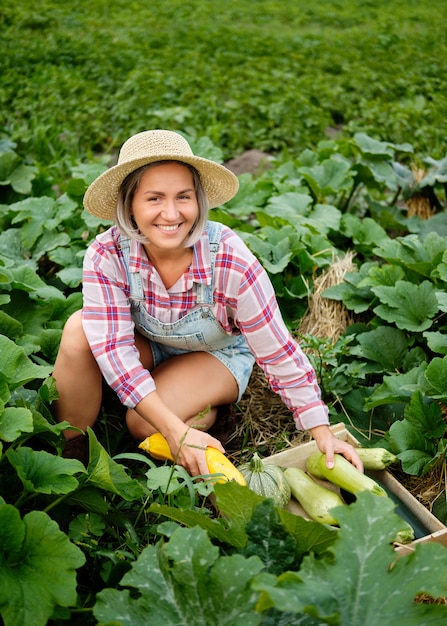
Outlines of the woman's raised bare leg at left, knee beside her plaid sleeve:
{"label": "woman's raised bare leg at left, knee beside her plaid sleeve", "polygon": [[[53,377],[59,392],[54,403],[56,419],[86,430],[95,423],[102,400],[102,376],[96,364],[81,323],[81,311],[65,324]],[[67,439],[79,436],[66,431]]]}

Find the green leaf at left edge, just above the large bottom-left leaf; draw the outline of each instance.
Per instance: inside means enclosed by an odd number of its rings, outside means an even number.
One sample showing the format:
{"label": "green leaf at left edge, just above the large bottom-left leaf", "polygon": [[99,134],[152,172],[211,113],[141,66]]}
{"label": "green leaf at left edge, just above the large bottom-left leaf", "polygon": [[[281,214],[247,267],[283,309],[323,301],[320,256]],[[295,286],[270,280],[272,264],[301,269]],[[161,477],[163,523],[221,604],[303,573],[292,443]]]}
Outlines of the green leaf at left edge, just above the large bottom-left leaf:
{"label": "green leaf at left edge, just above the large bottom-left leaf", "polygon": [[80,461],[63,459],[45,450],[32,450],[22,446],[17,450],[10,448],[6,456],[25,490],[30,493],[71,493],[79,484],[73,475],[85,472]]}

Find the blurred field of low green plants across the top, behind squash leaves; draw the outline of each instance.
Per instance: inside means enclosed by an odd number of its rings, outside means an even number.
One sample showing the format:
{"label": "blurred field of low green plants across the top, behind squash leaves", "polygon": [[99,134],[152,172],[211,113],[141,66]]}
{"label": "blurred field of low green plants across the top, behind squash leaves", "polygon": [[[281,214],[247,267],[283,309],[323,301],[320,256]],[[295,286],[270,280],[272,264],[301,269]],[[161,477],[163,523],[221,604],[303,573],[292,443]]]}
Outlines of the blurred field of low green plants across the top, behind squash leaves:
{"label": "blurred field of low green plants across the top, behind squash leaves", "polygon": [[0,127],[52,168],[162,127],[229,157],[362,130],[443,156],[443,0],[19,0]]}

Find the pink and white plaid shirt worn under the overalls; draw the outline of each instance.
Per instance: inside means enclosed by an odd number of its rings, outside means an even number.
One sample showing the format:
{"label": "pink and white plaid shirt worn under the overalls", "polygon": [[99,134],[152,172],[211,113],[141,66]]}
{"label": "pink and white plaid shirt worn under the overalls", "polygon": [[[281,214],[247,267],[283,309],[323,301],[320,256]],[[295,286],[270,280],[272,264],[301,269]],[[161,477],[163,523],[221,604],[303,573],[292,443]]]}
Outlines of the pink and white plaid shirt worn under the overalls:
{"label": "pink and white plaid shirt worn under the overalls", "polygon": [[[155,390],[155,384],[135,348],[129,283],[118,240],[113,226],[87,250],[83,326],[105,380],[125,406],[134,407]],[[227,333],[244,335],[271,388],[292,411],[297,428],[328,423],[315,372],[285,326],[270,279],[236,233],[223,227],[214,277],[206,232],[194,246],[191,266],[169,289],[137,241],[131,241],[130,267],[140,272],[148,313],[168,323],[194,307],[193,283],[210,284],[213,278],[216,318]]]}

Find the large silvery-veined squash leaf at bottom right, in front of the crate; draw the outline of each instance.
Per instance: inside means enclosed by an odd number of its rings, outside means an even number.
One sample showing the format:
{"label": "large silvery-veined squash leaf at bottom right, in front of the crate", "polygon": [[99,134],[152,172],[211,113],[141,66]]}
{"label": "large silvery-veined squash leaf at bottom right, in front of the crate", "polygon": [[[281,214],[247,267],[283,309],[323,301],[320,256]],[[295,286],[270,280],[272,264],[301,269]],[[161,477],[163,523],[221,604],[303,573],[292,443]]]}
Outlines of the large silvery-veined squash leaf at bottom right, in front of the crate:
{"label": "large silvery-veined squash leaf at bottom right, in front of the crate", "polygon": [[[435,625],[447,617],[445,606],[416,604],[419,593],[445,595],[447,550],[418,545],[396,560],[390,542],[401,528],[389,498],[358,494],[350,506],[337,507],[340,521],[332,558],[305,557],[298,573],[286,572],[276,585],[262,578],[255,588],[283,611],[308,613],[320,623]],[[261,602],[265,598],[261,597]],[[439,620],[438,622],[436,620]]]}

